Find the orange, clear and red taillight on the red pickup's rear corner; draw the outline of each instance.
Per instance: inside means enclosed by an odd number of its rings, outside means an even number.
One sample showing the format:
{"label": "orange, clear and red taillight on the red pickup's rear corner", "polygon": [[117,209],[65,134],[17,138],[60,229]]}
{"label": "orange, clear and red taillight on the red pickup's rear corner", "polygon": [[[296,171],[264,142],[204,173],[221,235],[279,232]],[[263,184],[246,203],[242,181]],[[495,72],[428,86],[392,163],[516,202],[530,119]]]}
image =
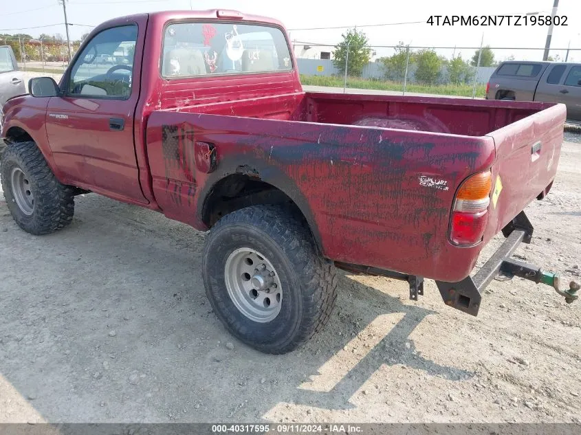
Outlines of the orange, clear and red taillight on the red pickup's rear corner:
{"label": "orange, clear and red taillight on the red pickup's rear corner", "polygon": [[456,245],[475,245],[482,240],[488,221],[492,174],[490,170],[466,179],[459,188],[452,210],[450,240]]}

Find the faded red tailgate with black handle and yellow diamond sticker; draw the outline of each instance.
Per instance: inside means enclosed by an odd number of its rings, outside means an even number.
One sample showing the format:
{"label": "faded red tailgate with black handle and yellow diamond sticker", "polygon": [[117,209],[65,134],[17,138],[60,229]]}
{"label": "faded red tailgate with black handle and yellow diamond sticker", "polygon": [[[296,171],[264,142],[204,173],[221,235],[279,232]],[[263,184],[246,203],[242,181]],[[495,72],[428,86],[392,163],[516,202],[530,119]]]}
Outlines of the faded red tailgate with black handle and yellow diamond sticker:
{"label": "faded red tailgate with black handle and yellow diamond sticker", "polygon": [[551,187],[567,110],[555,104],[490,133],[496,147],[485,241]]}

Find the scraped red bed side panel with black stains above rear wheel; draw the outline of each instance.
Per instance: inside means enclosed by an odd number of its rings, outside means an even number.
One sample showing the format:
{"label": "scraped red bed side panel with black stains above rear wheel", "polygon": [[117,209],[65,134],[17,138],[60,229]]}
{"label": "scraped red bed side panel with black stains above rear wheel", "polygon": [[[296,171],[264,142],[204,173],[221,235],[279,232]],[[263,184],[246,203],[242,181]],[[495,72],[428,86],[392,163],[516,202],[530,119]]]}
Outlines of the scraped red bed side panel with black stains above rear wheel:
{"label": "scraped red bed side panel with black stains above rear wheel", "polygon": [[[491,137],[168,111],[146,137],[160,208],[199,229],[212,186],[243,170],[293,199],[333,260],[454,281],[481,249],[451,245],[448,225],[459,183],[494,162]],[[215,172],[195,170],[195,141],[215,144]]]}

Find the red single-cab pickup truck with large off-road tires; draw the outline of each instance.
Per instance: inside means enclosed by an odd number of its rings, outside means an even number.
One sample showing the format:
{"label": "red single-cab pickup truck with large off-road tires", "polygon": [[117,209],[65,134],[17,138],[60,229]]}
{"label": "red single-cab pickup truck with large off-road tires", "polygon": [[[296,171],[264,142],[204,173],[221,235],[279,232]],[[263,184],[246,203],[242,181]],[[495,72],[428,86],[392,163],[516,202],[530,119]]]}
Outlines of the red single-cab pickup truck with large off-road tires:
{"label": "red single-cab pickup truck with large off-road tires", "polygon": [[208,298],[259,350],[325,324],[337,267],[407,280],[414,300],[432,278],[472,315],[498,274],[577,297],[509,258],[531,239],[523,209],[553,183],[562,104],[305,92],[283,25],[230,10],[107,21],[58,85],[29,91],[3,108],[18,225],[61,229],[90,191],[210,230]]}

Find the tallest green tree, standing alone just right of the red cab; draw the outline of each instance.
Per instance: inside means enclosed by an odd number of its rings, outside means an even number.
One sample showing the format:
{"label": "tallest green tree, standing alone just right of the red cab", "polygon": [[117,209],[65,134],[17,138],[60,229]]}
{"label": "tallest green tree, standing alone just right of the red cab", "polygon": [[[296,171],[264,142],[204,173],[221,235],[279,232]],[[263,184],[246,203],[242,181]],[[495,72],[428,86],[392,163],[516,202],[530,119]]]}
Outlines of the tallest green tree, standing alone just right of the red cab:
{"label": "tallest green tree, standing alone just right of the red cab", "polygon": [[[333,65],[339,70],[345,71],[347,63],[347,75],[361,76],[363,67],[369,63],[371,48],[367,47],[367,36],[364,32],[349,29],[342,34],[343,41],[338,43],[333,50]],[[349,56],[347,46],[349,45]],[[349,60],[347,60],[349,58]]]}

